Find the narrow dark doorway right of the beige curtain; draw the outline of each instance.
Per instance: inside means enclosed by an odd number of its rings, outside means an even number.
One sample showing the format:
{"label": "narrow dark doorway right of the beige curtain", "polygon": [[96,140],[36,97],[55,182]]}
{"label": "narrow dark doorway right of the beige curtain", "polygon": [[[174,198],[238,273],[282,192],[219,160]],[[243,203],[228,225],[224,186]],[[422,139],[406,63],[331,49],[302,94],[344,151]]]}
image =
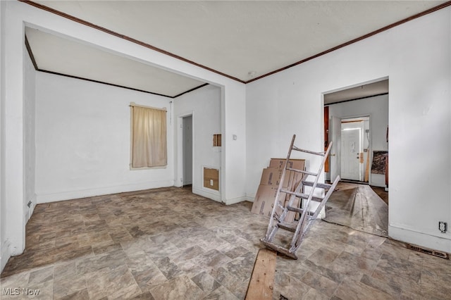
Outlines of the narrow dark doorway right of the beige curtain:
{"label": "narrow dark doorway right of the beige curtain", "polygon": [[192,189],[192,115],[182,118],[183,187]]}

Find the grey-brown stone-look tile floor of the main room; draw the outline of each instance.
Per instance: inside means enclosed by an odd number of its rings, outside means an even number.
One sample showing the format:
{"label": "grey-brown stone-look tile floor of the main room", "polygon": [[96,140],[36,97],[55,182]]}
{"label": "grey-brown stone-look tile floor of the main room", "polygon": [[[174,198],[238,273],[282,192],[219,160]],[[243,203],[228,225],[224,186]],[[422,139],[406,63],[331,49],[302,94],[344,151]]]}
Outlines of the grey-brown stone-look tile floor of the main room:
{"label": "grey-brown stone-look tile floor of the main room", "polygon": [[[175,187],[39,204],[0,298],[244,299],[268,223],[251,207]],[[384,237],[319,220],[297,255],[273,299],[451,299],[449,260]]]}

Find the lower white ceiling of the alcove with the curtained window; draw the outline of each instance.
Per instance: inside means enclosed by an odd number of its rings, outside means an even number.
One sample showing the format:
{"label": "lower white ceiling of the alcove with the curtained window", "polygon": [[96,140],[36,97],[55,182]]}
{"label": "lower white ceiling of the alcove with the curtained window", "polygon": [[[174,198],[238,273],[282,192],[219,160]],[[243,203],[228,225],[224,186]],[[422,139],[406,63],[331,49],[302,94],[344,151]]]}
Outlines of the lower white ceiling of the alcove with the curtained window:
{"label": "lower white ceiling of the alcove with the curtained window", "polygon": [[39,70],[165,96],[177,96],[204,84],[189,77],[29,27],[25,28],[25,35]]}

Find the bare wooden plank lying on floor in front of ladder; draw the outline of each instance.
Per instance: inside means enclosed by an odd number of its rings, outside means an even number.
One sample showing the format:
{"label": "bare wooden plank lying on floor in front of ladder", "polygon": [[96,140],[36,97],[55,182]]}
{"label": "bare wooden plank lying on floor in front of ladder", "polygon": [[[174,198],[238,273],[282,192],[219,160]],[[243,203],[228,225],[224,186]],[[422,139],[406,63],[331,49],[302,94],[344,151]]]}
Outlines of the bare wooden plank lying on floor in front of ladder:
{"label": "bare wooden plank lying on floor in front of ladder", "polygon": [[260,249],[255,259],[252,277],[247,287],[246,300],[272,300],[277,252]]}

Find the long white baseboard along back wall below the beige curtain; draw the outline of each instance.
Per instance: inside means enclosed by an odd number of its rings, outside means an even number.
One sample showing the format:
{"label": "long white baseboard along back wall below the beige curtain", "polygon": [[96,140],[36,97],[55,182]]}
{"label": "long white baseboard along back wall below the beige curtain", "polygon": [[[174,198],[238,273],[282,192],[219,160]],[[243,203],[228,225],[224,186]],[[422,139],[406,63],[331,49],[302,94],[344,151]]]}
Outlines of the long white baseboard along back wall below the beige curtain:
{"label": "long white baseboard along back wall below the beige curtain", "polygon": [[161,180],[154,182],[140,182],[132,185],[115,185],[113,187],[98,187],[92,189],[78,189],[69,192],[42,193],[37,194],[37,204],[80,199],[85,197],[117,194],[123,192],[141,191],[143,189],[156,189],[159,187],[173,187],[173,180]]}

